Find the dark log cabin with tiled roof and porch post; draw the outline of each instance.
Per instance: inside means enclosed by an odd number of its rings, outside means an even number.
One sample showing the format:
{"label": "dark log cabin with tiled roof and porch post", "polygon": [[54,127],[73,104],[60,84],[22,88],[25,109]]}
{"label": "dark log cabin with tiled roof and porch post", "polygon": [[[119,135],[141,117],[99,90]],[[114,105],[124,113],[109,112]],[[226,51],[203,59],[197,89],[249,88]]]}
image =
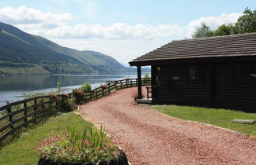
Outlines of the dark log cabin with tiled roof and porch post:
{"label": "dark log cabin with tiled roof and porch post", "polygon": [[152,104],[256,112],[256,33],[172,41],[130,61],[150,65]]}

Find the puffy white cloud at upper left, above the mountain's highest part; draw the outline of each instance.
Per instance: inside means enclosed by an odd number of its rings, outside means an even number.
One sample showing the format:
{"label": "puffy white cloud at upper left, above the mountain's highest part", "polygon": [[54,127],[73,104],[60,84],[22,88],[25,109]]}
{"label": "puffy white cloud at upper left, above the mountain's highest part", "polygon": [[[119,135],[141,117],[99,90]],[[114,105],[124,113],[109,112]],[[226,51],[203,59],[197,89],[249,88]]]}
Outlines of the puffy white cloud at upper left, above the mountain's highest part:
{"label": "puffy white cloud at upper left, above the mountain's highest part", "polygon": [[70,13],[43,13],[40,10],[19,6],[17,9],[6,7],[0,9],[0,21],[9,24],[40,24],[42,28],[62,26],[73,19]]}

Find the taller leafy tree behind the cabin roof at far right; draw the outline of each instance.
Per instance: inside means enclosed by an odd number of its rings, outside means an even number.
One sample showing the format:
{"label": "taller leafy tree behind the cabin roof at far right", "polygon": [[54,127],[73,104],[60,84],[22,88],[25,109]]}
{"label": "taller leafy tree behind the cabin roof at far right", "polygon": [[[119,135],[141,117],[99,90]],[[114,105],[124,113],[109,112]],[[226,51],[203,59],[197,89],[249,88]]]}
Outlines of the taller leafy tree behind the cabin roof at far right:
{"label": "taller leafy tree behind the cabin roof at far right", "polygon": [[256,32],[256,10],[253,12],[246,8],[243,16],[240,16],[235,23],[235,34],[252,33]]}

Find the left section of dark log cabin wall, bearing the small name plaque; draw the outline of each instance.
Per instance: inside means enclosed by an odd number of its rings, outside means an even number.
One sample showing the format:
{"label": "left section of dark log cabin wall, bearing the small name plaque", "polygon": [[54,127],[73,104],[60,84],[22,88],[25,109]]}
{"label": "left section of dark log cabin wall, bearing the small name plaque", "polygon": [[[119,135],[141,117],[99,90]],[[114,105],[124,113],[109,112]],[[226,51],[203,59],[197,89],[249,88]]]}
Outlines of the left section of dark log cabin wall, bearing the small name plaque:
{"label": "left section of dark log cabin wall, bearing the small name plaque", "polygon": [[205,68],[204,80],[202,82],[189,81],[188,64],[176,64],[171,66],[160,66],[160,71],[154,72],[152,78],[158,76],[160,82],[156,85],[156,104],[195,104],[205,102],[207,105],[211,101],[211,79],[210,68],[201,64]]}

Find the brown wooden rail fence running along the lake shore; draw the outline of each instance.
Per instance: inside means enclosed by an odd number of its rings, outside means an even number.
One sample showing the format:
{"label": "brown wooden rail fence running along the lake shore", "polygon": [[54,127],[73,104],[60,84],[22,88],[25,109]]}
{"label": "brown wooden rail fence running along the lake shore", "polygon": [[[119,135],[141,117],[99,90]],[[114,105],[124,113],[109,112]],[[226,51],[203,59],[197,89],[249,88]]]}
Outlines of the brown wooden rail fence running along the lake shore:
{"label": "brown wooden rail fence running along the lake shore", "polygon": [[[141,79],[142,85],[150,85],[151,78]],[[137,86],[137,79],[121,79],[106,83],[83,96],[83,102],[92,101],[115,90]],[[76,94],[59,94],[57,97],[51,95],[33,97],[23,101],[17,101],[0,107],[0,144],[10,134],[13,134],[28,123],[36,123],[36,119],[58,112],[63,101],[76,97]]]}

